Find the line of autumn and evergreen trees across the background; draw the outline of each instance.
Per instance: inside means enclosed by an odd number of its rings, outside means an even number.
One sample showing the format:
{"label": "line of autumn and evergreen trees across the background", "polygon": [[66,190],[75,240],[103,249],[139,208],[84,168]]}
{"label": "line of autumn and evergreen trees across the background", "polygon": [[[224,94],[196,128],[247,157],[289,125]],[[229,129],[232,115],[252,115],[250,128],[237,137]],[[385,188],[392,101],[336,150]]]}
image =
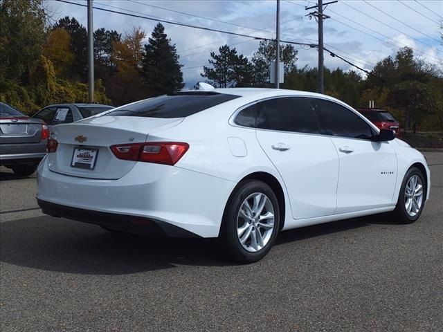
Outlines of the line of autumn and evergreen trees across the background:
{"label": "line of autumn and evergreen trees across the background", "polygon": [[[55,102],[87,101],[87,29],[74,17],[49,23],[43,0],[0,0],[0,100],[33,113]],[[183,88],[177,49],[161,24],[147,42],[139,27],[94,31],[95,100],[118,106]],[[217,87],[272,87],[275,41],[262,40],[251,56],[220,46],[203,66],[202,80]],[[316,91],[317,68],[297,66],[298,50],[280,45],[282,89]],[[404,127],[443,129],[443,64],[429,64],[401,48],[369,75],[325,68],[325,94],[348,104],[369,100],[395,114]]]}

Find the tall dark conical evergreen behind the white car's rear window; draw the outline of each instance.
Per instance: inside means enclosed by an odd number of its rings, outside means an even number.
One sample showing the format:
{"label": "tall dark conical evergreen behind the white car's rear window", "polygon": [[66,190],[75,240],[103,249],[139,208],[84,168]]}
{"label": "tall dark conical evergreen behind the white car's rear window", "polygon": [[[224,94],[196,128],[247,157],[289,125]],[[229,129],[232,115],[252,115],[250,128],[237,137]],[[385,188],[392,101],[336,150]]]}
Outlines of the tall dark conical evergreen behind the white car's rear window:
{"label": "tall dark conical evergreen behind the white car's rear window", "polygon": [[157,24],[145,45],[141,75],[154,95],[172,93],[183,88],[179,55],[162,24]]}

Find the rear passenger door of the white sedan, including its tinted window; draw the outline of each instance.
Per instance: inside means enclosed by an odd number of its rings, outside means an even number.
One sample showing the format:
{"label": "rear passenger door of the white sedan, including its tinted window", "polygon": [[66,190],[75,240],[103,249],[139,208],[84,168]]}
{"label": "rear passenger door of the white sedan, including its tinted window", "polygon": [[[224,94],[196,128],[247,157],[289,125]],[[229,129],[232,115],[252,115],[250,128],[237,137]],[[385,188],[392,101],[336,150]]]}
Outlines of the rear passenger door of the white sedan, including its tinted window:
{"label": "rear passenger door of the white sedan, including its tinted window", "polygon": [[275,98],[257,108],[257,140],[283,178],[293,218],[334,214],[338,156],[320,135],[311,99]]}

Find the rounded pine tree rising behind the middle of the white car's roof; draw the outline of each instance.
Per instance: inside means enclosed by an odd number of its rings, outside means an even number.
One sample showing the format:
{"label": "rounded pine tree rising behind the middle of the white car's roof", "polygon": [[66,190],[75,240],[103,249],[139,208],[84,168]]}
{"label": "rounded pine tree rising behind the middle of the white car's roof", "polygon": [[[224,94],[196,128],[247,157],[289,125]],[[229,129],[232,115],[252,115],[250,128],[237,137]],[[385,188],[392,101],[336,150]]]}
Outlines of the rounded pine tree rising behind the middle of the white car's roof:
{"label": "rounded pine tree rising behind the middle of the white car's roof", "polygon": [[219,53],[210,53],[208,62],[213,67],[203,67],[202,77],[221,88],[233,86],[250,86],[253,77],[253,66],[244,55],[238,55],[235,48],[221,46]]}

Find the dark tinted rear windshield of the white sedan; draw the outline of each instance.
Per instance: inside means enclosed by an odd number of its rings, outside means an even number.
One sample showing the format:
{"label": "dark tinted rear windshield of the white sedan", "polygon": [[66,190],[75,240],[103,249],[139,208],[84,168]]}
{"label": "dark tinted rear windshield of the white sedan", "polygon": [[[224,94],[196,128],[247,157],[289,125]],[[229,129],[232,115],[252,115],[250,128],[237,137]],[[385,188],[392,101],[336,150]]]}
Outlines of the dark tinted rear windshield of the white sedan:
{"label": "dark tinted rear windshield of the white sedan", "polygon": [[145,118],[185,118],[238,95],[210,92],[183,92],[142,100],[111,111],[105,116],[141,116]]}

